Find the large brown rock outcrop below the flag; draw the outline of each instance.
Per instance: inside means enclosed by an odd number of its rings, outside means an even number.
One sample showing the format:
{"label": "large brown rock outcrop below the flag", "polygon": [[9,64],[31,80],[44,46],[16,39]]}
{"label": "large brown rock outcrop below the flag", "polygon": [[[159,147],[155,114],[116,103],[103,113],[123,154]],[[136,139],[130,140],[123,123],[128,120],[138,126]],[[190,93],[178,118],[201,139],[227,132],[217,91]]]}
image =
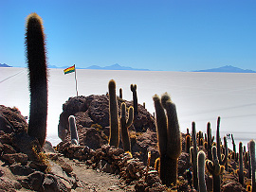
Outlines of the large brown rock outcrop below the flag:
{"label": "large brown rock outcrop below the flag", "polygon": [[[120,105],[126,103],[127,108],[133,105],[132,101],[118,98],[119,114]],[[68,98],[63,105],[60,115],[58,134],[62,141],[70,139],[68,116],[75,115],[81,145],[101,148],[107,143],[109,136],[109,98],[108,96],[75,96]],[[94,128],[94,129],[91,129]],[[130,131],[155,131],[155,119],[142,105],[138,104],[138,114]],[[90,135],[87,135],[87,134]],[[90,138],[94,144],[89,144]],[[87,143],[86,143],[87,142]],[[97,143],[98,142],[98,143]]]}

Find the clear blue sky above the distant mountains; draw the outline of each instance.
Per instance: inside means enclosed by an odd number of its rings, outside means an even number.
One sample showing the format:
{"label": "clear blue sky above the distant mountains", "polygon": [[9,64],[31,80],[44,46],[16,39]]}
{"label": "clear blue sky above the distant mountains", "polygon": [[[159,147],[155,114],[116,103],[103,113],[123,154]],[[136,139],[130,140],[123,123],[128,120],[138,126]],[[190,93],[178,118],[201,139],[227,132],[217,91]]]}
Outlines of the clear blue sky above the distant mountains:
{"label": "clear blue sky above the distant mountains", "polygon": [[44,20],[48,64],[256,70],[255,0],[0,0],[0,63],[27,66],[25,21]]}

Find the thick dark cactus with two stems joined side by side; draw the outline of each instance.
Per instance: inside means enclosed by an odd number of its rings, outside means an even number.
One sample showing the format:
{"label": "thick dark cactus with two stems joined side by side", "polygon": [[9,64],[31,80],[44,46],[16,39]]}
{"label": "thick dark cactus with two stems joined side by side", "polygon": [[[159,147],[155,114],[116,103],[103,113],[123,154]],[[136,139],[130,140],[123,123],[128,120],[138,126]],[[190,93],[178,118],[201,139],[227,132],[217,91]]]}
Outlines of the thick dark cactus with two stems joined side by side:
{"label": "thick dark cactus with two stems joined side by side", "polygon": [[160,179],[167,186],[175,185],[177,180],[177,160],[181,153],[181,138],[176,108],[167,93],[161,96],[161,101],[157,95],[153,96],[153,99],[155,102],[156,128],[160,152]]}

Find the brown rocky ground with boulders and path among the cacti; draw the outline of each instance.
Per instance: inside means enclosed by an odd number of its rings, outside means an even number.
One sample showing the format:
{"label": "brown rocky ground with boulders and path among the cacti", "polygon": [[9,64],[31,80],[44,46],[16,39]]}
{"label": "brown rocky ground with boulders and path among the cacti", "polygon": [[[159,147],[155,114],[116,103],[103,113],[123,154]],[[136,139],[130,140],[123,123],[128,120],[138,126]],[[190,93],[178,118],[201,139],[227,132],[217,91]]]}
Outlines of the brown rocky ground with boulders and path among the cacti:
{"label": "brown rocky ground with boulders and path among the cacti", "polygon": [[[119,108],[121,102],[132,105],[118,100]],[[0,106],[0,191],[194,191],[186,175],[192,163],[184,151],[183,133],[178,183],[169,188],[161,183],[154,168],[159,157],[155,117],[142,105],[138,105],[130,128],[132,153],[123,151],[121,142],[119,148],[108,145],[108,96],[70,97],[63,110],[59,123],[63,141],[55,148],[46,142],[42,151],[34,148],[36,141],[27,136],[27,122],[18,109]],[[67,118],[71,114],[76,117],[80,146],[70,142]],[[222,191],[247,191],[247,169],[242,185],[237,167],[238,163],[229,158]],[[208,172],[205,177],[210,190],[212,178]]]}

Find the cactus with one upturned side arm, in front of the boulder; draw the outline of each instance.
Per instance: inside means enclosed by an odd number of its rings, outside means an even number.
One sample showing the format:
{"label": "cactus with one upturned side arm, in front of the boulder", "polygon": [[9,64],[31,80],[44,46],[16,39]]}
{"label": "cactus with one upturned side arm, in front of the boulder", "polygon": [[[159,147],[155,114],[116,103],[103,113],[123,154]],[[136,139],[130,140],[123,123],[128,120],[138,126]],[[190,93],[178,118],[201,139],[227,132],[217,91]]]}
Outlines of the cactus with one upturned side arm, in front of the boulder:
{"label": "cactus with one upturned side arm, in front of the boulder", "polygon": [[134,108],[129,107],[129,116],[128,120],[126,120],[126,104],[121,103],[121,117],[120,117],[120,126],[121,126],[121,141],[124,151],[132,151],[131,150],[131,142],[129,137],[128,129],[132,125],[134,120]]}

